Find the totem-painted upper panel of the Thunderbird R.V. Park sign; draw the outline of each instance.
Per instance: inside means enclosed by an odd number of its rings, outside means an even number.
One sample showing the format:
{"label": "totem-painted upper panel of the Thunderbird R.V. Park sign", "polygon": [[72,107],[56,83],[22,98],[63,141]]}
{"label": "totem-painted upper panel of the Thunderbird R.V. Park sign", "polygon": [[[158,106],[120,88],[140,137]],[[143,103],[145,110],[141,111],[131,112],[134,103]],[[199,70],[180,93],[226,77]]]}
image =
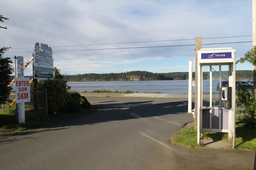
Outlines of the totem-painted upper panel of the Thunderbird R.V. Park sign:
{"label": "totem-painted upper panel of the Thunderbird R.V. Park sign", "polygon": [[[41,48],[41,49],[40,49]],[[38,65],[42,66],[51,66],[52,63],[52,49],[48,47],[47,44],[42,44],[41,46],[39,43],[35,44],[35,62]]]}

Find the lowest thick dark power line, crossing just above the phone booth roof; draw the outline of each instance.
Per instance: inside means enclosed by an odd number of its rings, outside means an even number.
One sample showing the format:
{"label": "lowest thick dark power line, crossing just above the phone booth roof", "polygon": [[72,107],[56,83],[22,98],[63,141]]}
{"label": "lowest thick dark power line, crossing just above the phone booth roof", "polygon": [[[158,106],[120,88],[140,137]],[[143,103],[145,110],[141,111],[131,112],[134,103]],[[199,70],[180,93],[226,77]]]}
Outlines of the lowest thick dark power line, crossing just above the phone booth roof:
{"label": "lowest thick dark power line, crossing just above the phone booth roof", "polygon": [[[250,43],[252,41],[245,42],[235,42],[235,43]],[[215,44],[233,44],[233,43],[215,43]],[[195,45],[195,44],[193,44]],[[172,46],[155,46],[155,47],[178,47],[178,46],[193,46],[193,45],[172,45]],[[212,44],[203,44],[203,45],[212,45]],[[155,48],[155,47],[128,47],[128,48],[105,48],[105,49],[86,49],[86,50],[59,50],[52,52],[60,52],[60,51],[88,51],[88,50],[107,50],[107,49],[130,49],[130,48]],[[5,52],[5,53],[33,53],[33,51],[25,51],[25,52]]]}

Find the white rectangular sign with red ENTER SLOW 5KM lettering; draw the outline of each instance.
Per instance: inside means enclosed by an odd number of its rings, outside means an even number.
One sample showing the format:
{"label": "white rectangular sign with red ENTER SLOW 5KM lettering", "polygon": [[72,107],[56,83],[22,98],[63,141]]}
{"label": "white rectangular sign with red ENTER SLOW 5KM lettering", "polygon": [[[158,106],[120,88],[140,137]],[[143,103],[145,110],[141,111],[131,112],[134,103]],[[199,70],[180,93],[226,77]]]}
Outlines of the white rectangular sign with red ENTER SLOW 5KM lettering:
{"label": "white rectangular sign with red ENTER SLOW 5KM lettering", "polygon": [[30,101],[29,78],[15,78],[15,98],[16,103],[25,103]]}

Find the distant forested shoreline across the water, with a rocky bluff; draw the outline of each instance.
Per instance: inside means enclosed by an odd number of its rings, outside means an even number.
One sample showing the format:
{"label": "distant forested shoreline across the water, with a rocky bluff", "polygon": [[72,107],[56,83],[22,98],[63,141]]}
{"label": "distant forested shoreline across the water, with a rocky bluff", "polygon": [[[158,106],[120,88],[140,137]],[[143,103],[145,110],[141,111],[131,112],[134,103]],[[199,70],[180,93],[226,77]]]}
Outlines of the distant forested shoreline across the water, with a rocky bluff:
{"label": "distant forested shoreline across the water, with a rocky bluff", "polygon": [[[228,71],[222,71],[222,77],[228,79]],[[251,70],[237,70],[236,76],[239,79],[251,79]],[[203,72],[203,79],[209,79],[209,72]],[[219,72],[212,71],[213,79],[219,79]],[[195,72],[193,72],[193,79]],[[66,81],[145,81],[145,80],[187,80],[189,72],[152,73],[148,71],[129,71],[123,73],[89,73],[79,75],[64,75]]]}

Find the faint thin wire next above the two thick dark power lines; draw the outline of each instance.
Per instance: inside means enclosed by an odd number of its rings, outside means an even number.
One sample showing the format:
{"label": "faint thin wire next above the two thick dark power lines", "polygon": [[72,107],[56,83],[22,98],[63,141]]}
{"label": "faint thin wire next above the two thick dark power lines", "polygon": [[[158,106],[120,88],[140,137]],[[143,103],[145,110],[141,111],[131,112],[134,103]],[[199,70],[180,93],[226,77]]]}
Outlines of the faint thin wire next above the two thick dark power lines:
{"label": "faint thin wire next above the two thick dark power lines", "polygon": [[[237,24],[249,24],[249,23],[252,23],[252,22],[237,23]],[[212,25],[212,26],[227,26],[227,25],[237,25],[237,24],[222,24],[222,25]],[[74,34],[74,35],[61,35],[61,36],[47,36],[47,37],[28,37],[28,38],[64,37],[64,36],[76,36],[76,35],[91,35],[91,34],[105,34],[105,33],[118,33],[118,32],[134,32],[134,31],[151,31],[151,30],[178,29],[178,28],[197,28],[197,27],[212,27],[212,26],[196,26],[196,27],[161,28],[161,29],[148,29],[148,30],[116,31],[116,32],[100,32],[100,33]],[[24,39],[24,38],[0,38],[0,39]]]}

